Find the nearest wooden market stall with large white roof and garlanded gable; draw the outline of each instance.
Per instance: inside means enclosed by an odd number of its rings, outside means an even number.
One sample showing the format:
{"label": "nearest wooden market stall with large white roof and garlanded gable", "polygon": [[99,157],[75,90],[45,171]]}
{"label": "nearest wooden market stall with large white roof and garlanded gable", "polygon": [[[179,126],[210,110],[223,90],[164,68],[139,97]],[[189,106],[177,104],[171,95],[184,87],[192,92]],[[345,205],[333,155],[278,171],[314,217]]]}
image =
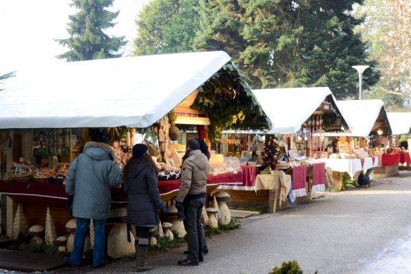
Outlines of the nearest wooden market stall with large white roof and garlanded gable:
{"label": "nearest wooden market stall with large white roof and garlanded gable", "polygon": [[[239,115],[241,119],[233,119]],[[120,163],[129,157],[134,133],[149,132],[156,139],[151,144],[151,150],[157,150],[153,156],[162,161],[160,166],[169,166],[175,147],[184,148],[171,142],[171,127],[197,126],[198,137],[207,140],[219,130],[221,119],[235,128],[271,126],[223,51],[68,62],[17,71],[0,93],[0,193],[8,197],[1,205],[7,208],[7,218],[2,216],[7,234],[12,237],[17,204],[23,206],[29,225],[42,224],[50,208],[55,228],[64,234],[71,216],[62,179],[36,181],[34,175],[41,166],[55,169],[62,162],[66,170],[81,153],[90,130],[108,135]],[[177,195],[179,179],[165,177],[158,186],[162,199],[170,201]],[[225,173],[210,176],[208,191],[239,184],[240,179]],[[122,187],[112,188],[112,208],[124,207],[126,201]]]}

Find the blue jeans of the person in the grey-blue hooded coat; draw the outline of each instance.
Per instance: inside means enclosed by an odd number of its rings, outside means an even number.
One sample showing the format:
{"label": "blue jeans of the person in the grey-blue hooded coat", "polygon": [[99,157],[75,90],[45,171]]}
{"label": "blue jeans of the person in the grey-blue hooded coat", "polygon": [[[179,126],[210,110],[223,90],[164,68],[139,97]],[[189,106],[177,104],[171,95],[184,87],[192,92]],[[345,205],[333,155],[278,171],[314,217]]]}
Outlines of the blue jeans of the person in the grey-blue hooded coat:
{"label": "blue jeans of the person in the grey-blue hooded coat", "polygon": [[[92,265],[101,266],[105,247],[105,220],[92,220],[95,229],[94,248],[92,250]],[[77,218],[75,221],[74,250],[71,253],[70,263],[74,266],[82,264],[84,240],[88,234],[90,219]]]}

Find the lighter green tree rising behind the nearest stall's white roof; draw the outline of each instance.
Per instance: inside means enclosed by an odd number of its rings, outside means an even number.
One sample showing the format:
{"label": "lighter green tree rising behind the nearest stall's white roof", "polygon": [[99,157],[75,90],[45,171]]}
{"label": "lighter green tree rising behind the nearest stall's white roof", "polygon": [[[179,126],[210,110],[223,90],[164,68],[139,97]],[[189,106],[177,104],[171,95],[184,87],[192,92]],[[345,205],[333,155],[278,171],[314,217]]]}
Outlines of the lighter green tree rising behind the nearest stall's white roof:
{"label": "lighter green tree rising behind the nearest stall's white roof", "polygon": [[153,0],[138,16],[136,55],[192,50],[199,27],[199,0]]}

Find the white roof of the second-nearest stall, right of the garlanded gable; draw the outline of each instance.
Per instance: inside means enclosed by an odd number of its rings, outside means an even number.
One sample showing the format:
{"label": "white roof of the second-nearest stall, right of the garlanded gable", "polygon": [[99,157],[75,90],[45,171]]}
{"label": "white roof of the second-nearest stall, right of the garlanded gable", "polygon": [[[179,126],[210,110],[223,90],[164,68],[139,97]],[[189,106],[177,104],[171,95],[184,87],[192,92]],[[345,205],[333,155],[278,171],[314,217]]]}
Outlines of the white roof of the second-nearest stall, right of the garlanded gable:
{"label": "white roof of the second-nearest stall, right of the garlanded gable", "polygon": [[274,88],[253,93],[273,124],[269,134],[295,134],[327,96],[336,102],[327,87]]}

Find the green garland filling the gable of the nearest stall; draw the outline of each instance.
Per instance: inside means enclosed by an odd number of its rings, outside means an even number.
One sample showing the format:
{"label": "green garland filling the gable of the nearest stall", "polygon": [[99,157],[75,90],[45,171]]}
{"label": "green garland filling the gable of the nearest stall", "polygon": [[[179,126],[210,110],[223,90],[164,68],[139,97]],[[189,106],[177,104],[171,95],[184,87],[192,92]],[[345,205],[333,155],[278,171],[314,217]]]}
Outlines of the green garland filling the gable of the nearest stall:
{"label": "green garland filling the gable of the nearest stall", "polygon": [[271,126],[245,76],[232,62],[199,87],[199,95],[191,108],[210,119],[212,140],[219,138],[225,129],[262,130]]}

